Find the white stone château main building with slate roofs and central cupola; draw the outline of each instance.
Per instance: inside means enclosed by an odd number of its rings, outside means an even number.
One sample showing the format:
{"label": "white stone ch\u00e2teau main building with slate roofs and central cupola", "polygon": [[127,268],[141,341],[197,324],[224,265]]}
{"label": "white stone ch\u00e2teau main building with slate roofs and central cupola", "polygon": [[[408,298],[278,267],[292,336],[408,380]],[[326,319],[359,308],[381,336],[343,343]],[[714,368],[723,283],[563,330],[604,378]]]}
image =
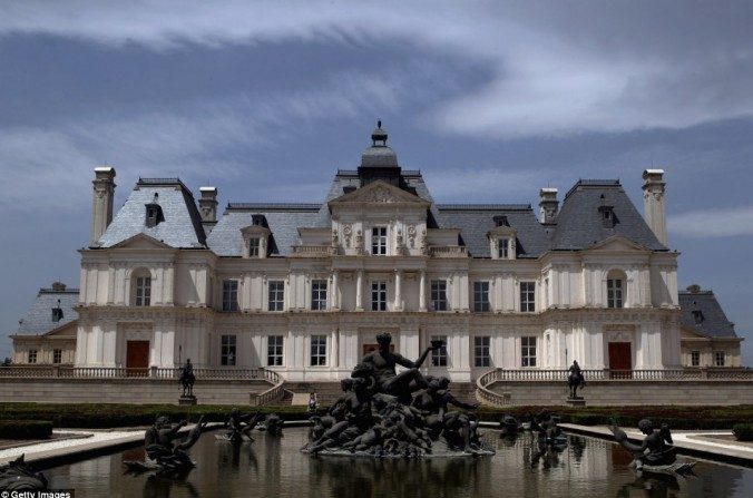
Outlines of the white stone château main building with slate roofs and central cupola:
{"label": "white stone ch\u00e2teau main building with slate roofs and central cupola", "polygon": [[645,219],[618,180],[581,179],[559,207],[437,204],[380,126],[323,204],[198,202],[177,178],[140,178],[113,217],[115,169],[96,168],[81,250],[75,363],[349,377],[389,331],[430,371],[681,365],[677,253],[665,183],[644,172]]}

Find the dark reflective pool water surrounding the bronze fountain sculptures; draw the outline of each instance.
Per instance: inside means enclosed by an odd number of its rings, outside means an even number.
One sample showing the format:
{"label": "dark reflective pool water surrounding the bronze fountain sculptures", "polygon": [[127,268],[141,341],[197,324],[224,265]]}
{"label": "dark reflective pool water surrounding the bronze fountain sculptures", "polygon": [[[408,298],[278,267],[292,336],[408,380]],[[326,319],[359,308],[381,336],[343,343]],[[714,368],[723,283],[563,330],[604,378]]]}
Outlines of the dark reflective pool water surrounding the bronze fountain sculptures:
{"label": "dark reflective pool water surrounding the bronze fountain sculptures", "polygon": [[[480,459],[372,460],[312,458],[299,452],[307,431],[283,438],[255,434],[237,450],[205,433],[190,453],[198,467],[183,480],[123,473],[128,450],[48,470],[53,488],[76,497],[753,497],[753,469],[700,461],[695,477],[643,477],[630,455],[607,441],[570,437],[561,453],[530,467],[532,440],[500,440],[497,455]],[[681,457],[685,458],[685,457]]]}

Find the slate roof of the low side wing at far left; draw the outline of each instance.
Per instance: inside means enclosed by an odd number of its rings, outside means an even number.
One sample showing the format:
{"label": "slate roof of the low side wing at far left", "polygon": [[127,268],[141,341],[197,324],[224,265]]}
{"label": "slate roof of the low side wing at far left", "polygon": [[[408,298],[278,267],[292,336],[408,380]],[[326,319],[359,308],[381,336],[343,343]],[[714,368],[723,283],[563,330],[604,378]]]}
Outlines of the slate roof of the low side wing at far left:
{"label": "slate roof of the low side wing at far left", "polygon": [[[62,318],[53,320],[52,309],[58,306]],[[42,335],[53,330],[60,329],[70,322],[78,320],[76,305],[78,304],[78,289],[55,290],[40,289],[37,299],[31,303],[31,307],[20,322],[17,335]]]}

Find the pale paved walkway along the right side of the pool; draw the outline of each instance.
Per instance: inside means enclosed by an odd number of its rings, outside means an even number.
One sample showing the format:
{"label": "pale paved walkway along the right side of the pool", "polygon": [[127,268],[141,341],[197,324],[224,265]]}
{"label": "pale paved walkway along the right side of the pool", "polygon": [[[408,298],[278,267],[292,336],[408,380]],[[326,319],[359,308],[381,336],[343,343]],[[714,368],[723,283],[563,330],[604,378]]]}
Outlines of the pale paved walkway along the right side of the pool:
{"label": "pale paved walkway along the right side of the pool", "polygon": [[[560,423],[563,430],[603,439],[613,439],[606,426],[578,426]],[[633,428],[623,428],[632,441],[643,441],[644,434]],[[753,466],[753,447],[744,442],[713,439],[710,436],[728,436],[732,431],[672,431],[672,439],[681,452],[715,460],[730,460]]]}

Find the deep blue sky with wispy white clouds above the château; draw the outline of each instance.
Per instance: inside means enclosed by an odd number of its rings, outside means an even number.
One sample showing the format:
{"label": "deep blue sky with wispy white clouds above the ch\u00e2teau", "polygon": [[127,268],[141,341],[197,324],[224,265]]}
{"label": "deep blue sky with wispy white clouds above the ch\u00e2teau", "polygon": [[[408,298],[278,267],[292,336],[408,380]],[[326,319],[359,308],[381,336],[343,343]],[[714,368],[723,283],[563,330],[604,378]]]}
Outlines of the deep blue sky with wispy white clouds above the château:
{"label": "deep blue sky with wispy white clouds above the ch\u00e2teau", "polygon": [[753,3],[0,1],[0,357],[78,286],[94,168],[322,202],[376,119],[440,203],[538,204],[663,168],[681,289],[753,365]]}

